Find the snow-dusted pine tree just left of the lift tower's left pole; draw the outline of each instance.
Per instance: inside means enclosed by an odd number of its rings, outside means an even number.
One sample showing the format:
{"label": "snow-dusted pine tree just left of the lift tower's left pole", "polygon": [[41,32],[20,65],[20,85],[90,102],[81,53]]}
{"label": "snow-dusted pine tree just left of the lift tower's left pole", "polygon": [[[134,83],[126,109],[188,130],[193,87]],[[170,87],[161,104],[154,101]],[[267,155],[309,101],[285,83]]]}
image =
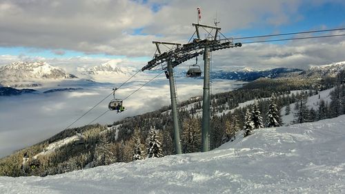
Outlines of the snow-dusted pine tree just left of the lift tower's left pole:
{"label": "snow-dusted pine tree just left of the lift tower's left pole", "polygon": [[147,157],[163,157],[161,150],[160,135],[155,128],[150,129],[147,141]]}

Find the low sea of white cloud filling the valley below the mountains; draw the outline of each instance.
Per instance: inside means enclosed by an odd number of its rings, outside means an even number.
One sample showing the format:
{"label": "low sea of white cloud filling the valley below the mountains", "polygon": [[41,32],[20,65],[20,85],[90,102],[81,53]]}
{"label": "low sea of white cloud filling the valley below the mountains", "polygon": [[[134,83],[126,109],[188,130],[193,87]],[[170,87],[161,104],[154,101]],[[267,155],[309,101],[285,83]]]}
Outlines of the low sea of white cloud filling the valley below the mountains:
{"label": "low sea of white cloud filling the valley below the mountains", "polygon": [[[152,77],[154,75],[146,77],[147,81]],[[143,79],[140,79],[140,82],[135,80],[117,90],[116,97],[124,99],[137,88],[146,84]],[[215,90],[213,92],[231,90],[234,87],[233,82],[229,80],[214,81],[213,88]],[[177,79],[177,90],[180,101],[201,95],[202,80]],[[0,97],[0,157],[59,133],[111,92],[112,84],[102,84],[73,92]],[[112,95],[72,127],[86,125],[104,113],[108,109],[110,99],[112,99]],[[126,111],[120,114],[110,111],[99,118],[97,122],[112,124],[112,122],[125,117],[157,110],[161,106],[169,104],[168,79],[161,75],[124,100]]]}

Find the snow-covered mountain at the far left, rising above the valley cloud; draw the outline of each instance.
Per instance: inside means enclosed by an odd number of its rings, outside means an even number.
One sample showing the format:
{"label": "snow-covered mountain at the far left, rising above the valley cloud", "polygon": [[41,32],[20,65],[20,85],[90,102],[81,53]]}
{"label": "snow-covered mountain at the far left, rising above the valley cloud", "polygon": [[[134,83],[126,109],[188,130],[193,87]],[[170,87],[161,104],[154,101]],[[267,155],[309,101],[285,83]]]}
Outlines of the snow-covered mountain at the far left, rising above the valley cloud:
{"label": "snow-covered mountain at the far left, rising above the valley cloud", "polygon": [[38,86],[39,81],[42,80],[71,78],[75,78],[75,75],[68,74],[63,69],[50,66],[43,61],[19,61],[0,67],[0,83],[3,86]]}

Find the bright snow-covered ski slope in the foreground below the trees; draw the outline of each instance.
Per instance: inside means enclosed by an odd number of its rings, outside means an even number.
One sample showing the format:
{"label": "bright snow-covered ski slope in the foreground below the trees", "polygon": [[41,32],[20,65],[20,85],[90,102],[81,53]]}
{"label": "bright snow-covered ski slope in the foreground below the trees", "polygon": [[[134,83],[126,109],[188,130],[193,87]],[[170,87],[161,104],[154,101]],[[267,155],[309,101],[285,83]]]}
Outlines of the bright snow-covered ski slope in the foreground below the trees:
{"label": "bright snow-covered ski slope in the foreground below the trees", "polygon": [[0,193],[345,193],[345,115],[262,128],[208,153],[48,177],[0,177]]}

